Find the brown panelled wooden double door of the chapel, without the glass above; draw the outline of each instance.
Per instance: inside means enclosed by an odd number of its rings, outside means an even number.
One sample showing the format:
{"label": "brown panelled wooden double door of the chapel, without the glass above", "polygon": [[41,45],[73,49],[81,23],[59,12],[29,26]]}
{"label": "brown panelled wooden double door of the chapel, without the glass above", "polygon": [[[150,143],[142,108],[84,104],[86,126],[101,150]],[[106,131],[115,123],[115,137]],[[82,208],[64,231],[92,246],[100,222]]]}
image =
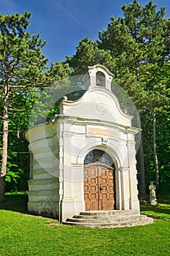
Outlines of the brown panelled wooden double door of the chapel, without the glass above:
{"label": "brown panelled wooden double door of the chapel, without the glass above", "polygon": [[114,169],[99,162],[84,166],[85,211],[114,209]]}

